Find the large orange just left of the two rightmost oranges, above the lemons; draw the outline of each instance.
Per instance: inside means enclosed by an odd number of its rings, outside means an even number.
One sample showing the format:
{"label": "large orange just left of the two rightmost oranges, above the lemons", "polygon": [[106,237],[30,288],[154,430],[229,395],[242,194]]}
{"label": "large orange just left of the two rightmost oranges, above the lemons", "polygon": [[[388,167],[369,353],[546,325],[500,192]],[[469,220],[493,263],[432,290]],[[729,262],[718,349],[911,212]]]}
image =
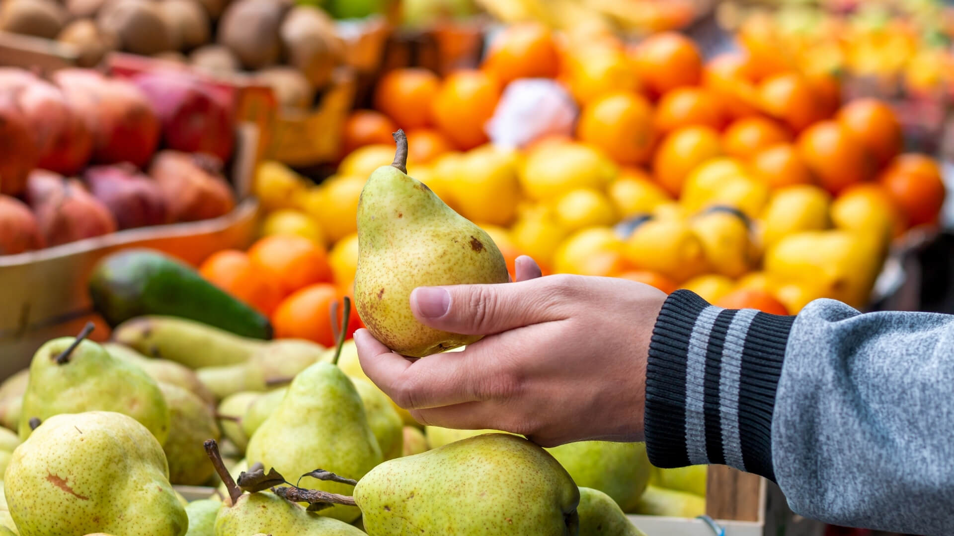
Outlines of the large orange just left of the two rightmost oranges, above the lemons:
{"label": "large orange just left of the two rightmost oranges, above the lemons", "polygon": [[821,121],[798,136],[798,154],[832,194],[871,178],[871,156],[857,138],[836,121]]}

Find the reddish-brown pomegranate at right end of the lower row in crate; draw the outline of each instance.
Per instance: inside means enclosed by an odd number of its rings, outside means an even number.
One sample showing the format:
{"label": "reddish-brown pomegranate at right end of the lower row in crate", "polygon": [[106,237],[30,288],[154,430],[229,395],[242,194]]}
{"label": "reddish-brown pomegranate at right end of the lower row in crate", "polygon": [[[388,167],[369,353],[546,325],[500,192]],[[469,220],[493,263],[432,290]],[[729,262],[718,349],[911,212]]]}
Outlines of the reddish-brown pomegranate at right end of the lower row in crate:
{"label": "reddish-brown pomegranate at right end of the lower row in crate", "polygon": [[162,151],[149,175],[156,180],[176,221],[224,216],[235,207],[232,190],[202,155]]}

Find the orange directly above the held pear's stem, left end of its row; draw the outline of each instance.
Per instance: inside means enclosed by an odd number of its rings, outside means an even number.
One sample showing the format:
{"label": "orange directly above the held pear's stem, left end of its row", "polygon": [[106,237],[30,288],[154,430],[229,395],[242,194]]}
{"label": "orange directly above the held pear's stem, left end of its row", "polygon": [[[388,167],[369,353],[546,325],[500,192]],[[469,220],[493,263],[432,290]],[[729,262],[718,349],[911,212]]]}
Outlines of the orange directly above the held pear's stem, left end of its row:
{"label": "orange directly above the held pear's stem, left end of its row", "polygon": [[437,74],[426,69],[395,69],[378,81],[374,107],[394,119],[404,130],[426,127],[430,124],[427,111],[440,85]]}

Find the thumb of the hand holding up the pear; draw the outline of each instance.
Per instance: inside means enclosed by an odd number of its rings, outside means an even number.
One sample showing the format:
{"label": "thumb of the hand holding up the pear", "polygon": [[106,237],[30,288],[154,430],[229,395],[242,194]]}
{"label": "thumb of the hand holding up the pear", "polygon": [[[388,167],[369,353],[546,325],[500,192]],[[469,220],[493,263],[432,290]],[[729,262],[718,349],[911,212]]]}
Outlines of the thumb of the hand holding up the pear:
{"label": "thumb of the hand holding up the pear", "polygon": [[555,320],[540,288],[546,278],[491,285],[418,287],[411,292],[414,317],[435,329],[491,335]]}

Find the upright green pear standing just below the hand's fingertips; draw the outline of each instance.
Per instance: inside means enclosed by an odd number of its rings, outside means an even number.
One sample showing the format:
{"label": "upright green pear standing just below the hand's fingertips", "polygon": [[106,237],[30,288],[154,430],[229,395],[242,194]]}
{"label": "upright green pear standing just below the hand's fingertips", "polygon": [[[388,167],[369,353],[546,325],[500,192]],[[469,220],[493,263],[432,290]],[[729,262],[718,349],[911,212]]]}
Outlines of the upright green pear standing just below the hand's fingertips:
{"label": "upright green pear standing just below the hand's fingertips", "polygon": [[[289,479],[321,468],[345,478],[360,479],[384,458],[364,414],[354,384],[331,363],[317,362],[295,377],[279,406],[248,441],[250,464],[274,467]],[[305,477],[303,487],[348,493],[347,484]],[[321,510],[344,522],[361,514],[358,508],[334,505]]]}

